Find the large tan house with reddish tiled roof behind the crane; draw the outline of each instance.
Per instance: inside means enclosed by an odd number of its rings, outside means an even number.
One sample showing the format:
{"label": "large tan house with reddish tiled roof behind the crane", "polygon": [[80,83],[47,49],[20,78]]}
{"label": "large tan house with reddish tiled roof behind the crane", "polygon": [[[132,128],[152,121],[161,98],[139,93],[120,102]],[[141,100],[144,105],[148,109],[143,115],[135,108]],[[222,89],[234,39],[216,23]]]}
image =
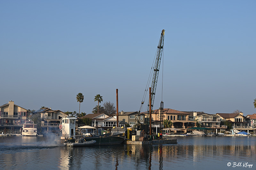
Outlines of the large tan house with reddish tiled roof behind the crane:
{"label": "large tan house with reddish tiled roof behind the crane", "polygon": [[[195,127],[196,121],[190,120],[189,113],[181,112],[173,109],[163,109],[163,120],[171,120],[172,128],[178,128],[187,132],[188,128]],[[151,113],[152,119],[160,120],[160,110],[153,110]]]}

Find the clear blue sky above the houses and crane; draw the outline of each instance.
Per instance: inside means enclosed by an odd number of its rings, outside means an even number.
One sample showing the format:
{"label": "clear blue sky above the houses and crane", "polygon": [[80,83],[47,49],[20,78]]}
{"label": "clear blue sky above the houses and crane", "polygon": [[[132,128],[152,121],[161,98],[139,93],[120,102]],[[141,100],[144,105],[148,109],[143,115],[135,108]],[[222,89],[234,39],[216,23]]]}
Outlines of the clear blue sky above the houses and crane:
{"label": "clear blue sky above the houses and crane", "polygon": [[[162,29],[154,109],[255,113],[256,2],[1,1],[0,105],[138,111]],[[164,72],[162,80],[162,66]],[[146,101],[146,100],[145,100]],[[146,102],[145,102],[146,103]],[[145,105],[144,110],[147,109]]]}

